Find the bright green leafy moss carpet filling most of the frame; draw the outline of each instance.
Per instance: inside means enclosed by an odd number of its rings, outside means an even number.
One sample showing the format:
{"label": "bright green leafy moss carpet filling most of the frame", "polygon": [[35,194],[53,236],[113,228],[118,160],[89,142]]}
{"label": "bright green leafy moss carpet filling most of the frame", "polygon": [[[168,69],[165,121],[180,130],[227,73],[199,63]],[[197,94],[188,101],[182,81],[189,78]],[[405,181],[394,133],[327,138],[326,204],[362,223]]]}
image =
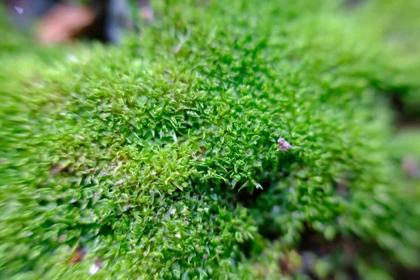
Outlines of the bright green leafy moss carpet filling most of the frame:
{"label": "bright green leafy moss carpet filling most of the frame", "polygon": [[96,263],[98,279],[385,279],[419,265],[419,193],[389,149],[386,94],[419,92],[414,63],[372,6],[263,2],[155,1],[159,20],[121,48],[1,44],[3,276],[85,278]]}

